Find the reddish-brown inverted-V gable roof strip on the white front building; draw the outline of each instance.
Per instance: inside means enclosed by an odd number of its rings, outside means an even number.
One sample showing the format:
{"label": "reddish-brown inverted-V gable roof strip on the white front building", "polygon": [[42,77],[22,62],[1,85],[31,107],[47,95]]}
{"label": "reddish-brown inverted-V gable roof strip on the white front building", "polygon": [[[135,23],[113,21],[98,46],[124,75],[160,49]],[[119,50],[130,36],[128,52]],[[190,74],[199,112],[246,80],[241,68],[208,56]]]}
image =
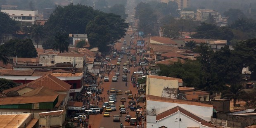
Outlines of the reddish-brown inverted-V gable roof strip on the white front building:
{"label": "reddish-brown inverted-V gable roof strip on the white front building", "polygon": [[201,119],[200,117],[198,117],[197,115],[192,114],[190,111],[187,111],[179,106],[174,107],[172,109],[169,109],[167,111],[164,111],[161,114],[156,115],[156,121],[159,121],[167,116],[170,116],[171,114],[174,114],[175,112],[180,111],[181,113],[185,114],[186,116],[189,116],[190,118],[196,120],[197,122],[201,122],[202,125],[204,126],[208,126],[208,127],[214,127],[213,125],[211,125],[210,122],[205,121],[204,119]]}

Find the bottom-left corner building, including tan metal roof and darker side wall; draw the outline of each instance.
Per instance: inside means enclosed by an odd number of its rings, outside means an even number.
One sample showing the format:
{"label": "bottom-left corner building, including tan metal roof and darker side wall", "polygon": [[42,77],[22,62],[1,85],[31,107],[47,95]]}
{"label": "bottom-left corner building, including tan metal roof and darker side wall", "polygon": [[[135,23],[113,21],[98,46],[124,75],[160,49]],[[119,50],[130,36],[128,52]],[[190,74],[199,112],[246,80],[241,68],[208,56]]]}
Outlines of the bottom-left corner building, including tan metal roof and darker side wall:
{"label": "bottom-left corner building, including tan metal roof and darker side wall", "polygon": [[38,128],[38,119],[32,113],[1,112],[0,128]]}

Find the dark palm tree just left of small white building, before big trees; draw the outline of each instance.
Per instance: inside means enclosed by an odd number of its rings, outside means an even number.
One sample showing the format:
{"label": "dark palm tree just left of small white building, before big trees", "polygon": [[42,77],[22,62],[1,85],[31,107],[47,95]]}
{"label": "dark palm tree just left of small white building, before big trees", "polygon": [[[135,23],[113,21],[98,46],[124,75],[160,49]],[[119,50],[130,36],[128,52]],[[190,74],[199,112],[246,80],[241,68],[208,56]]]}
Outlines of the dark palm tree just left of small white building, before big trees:
{"label": "dark palm tree just left of small white building, before big trees", "polygon": [[69,51],[69,42],[67,40],[69,40],[69,36],[66,33],[57,32],[52,50],[57,50],[59,53]]}

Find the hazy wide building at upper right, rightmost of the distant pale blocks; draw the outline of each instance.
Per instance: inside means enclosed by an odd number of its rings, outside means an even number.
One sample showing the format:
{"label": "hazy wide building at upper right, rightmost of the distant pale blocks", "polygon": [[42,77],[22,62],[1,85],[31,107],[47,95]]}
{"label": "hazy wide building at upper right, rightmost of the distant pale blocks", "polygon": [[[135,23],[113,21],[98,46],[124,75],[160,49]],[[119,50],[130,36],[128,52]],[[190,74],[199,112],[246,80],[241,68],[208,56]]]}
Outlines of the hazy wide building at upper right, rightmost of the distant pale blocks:
{"label": "hazy wide building at upper right, rightmost of the distant pale blocks", "polygon": [[217,11],[210,9],[197,9],[198,21],[206,21],[210,16],[213,16],[215,21],[219,20],[219,13]]}

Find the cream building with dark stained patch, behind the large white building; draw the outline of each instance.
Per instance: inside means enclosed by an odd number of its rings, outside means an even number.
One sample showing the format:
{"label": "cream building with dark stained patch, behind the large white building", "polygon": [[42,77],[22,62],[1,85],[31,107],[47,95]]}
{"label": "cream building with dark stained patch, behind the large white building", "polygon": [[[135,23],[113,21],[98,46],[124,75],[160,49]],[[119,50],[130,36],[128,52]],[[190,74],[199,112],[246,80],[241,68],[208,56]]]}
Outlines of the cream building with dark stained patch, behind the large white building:
{"label": "cream building with dark stained patch, behind the large white building", "polygon": [[166,76],[148,75],[146,95],[177,99],[178,86],[182,86],[182,79]]}

